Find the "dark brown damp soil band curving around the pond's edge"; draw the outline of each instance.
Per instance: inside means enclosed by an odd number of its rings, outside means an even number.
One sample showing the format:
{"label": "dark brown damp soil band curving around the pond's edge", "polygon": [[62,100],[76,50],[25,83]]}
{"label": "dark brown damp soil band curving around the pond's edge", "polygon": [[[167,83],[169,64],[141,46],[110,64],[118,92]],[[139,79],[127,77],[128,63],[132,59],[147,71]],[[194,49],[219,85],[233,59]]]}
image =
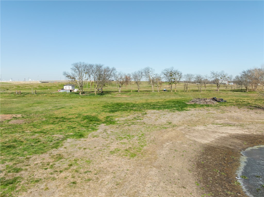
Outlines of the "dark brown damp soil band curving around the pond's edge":
{"label": "dark brown damp soil band curving around the pond's edge", "polygon": [[[246,140],[246,141],[245,141]],[[225,142],[223,144],[223,142]],[[248,147],[264,145],[264,135],[229,135],[206,145],[196,157],[197,177],[205,193],[217,196],[245,196],[235,178],[240,165],[240,152]]]}

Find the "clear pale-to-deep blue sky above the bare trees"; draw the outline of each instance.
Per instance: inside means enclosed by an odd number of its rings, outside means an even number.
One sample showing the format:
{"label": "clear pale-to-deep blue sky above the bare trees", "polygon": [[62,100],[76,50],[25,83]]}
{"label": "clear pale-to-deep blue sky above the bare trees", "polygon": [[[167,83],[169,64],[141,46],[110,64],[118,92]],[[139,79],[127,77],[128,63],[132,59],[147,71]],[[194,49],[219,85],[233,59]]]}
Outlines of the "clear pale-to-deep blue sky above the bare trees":
{"label": "clear pale-to-deep blue sky above the bare trees", "polygon": [[264,1],[1,1],[2,80],[80,61],[237,75],[264,62]]}

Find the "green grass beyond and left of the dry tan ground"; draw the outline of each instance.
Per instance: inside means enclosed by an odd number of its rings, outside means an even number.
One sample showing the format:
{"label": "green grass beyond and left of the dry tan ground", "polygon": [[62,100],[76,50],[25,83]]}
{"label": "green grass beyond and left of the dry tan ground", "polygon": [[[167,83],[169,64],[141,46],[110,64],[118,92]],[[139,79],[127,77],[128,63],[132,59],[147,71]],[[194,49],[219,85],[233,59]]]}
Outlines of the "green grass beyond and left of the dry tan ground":
{"label": "green grass beyond and left of the dry tan ground", "polygon": [[[22,114],[22,117],[13,119],[25,120],[22,124],[9,124],[10,120],[1,122],[1,164],[8,164],[1,169],[3,174],[17,174],[23,167],[17,164],[28,160],[31,155],[43,154],[49,150],[59,148],[69,138],[85,138],[96,131],[101,124],[118,124],[118,119],[133,116],[126,120],[126,124],[137,124],[148,110],[186,111],[190,109],[214,108],[220,106],[249,107],[263,105],[263,99],[254,92],[240,92],[235,90],[216,92],[197,92],[195,85],[190,92],[184,92],[182,84],[177,85],[177,92],[151,92],[151,87],[146,82],[142,84],[141,92],[133,92],[129,86],[124,87],[121,93],[117,92],[115,84],[105,87],[103,94],[93,94],[88,89],[80,96],[78,93],[58,93],[64,83],[44,84],[2,84],[1,114]],[[161,87],[167,88],[166,84]],[[31,94],[37,91],[37,94]],[[21,90],[21,95],[15,94]],[[192,98],[218,97],[227,100],[226,103],[217,105],[186,104]],[[167,124],[170,124],[168,122]],[[115,140],[120,141],[120,147],[110,150],[110,154],[127,156],[131,159],[139,155],[146,146],[145,133],[164,125],[148,128],[142,125],[137,134],[129,132],[115,133]],[[98,136],[94,136],[98,137]],[[125,142],[123,142],[126,140]],[[134,143],[134,141],[136,143]],[[125,145],[129,144],[130,148]],[[122,146],[124,145],[124,146]],[[64,159],[63,155],[51,155],[54,162]],[[87,164],[91,160],[86,161]],[[67,168],[77,165],[77,161],[70,161]],[[43,169],[52,168],[53,165],[43,166]],[[88,172],[88,171],[87,171]],[[12,179],[1,177],[1,196],[11,195],[16,190],[17,184],[22,180],[20,176]],[[29,184],[40,180],[32,180]],[[74,185],[75,183],[71,183]]]}

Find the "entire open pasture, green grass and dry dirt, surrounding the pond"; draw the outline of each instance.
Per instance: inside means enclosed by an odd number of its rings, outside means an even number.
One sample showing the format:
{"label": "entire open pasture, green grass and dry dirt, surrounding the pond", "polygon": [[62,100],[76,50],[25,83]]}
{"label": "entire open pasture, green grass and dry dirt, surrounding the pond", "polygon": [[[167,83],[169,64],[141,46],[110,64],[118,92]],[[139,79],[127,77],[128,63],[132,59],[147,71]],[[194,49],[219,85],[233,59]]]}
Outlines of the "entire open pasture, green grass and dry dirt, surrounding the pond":
{"label": "entire open pasture, green grass and dry dirt, surrounding the pond", "polygon": [[[257,93],[63,85],[1,85],[1,196],[245,196],[235,170],[242,149],[264,144]],[[227,102],[187,104],[205,97]]]}

